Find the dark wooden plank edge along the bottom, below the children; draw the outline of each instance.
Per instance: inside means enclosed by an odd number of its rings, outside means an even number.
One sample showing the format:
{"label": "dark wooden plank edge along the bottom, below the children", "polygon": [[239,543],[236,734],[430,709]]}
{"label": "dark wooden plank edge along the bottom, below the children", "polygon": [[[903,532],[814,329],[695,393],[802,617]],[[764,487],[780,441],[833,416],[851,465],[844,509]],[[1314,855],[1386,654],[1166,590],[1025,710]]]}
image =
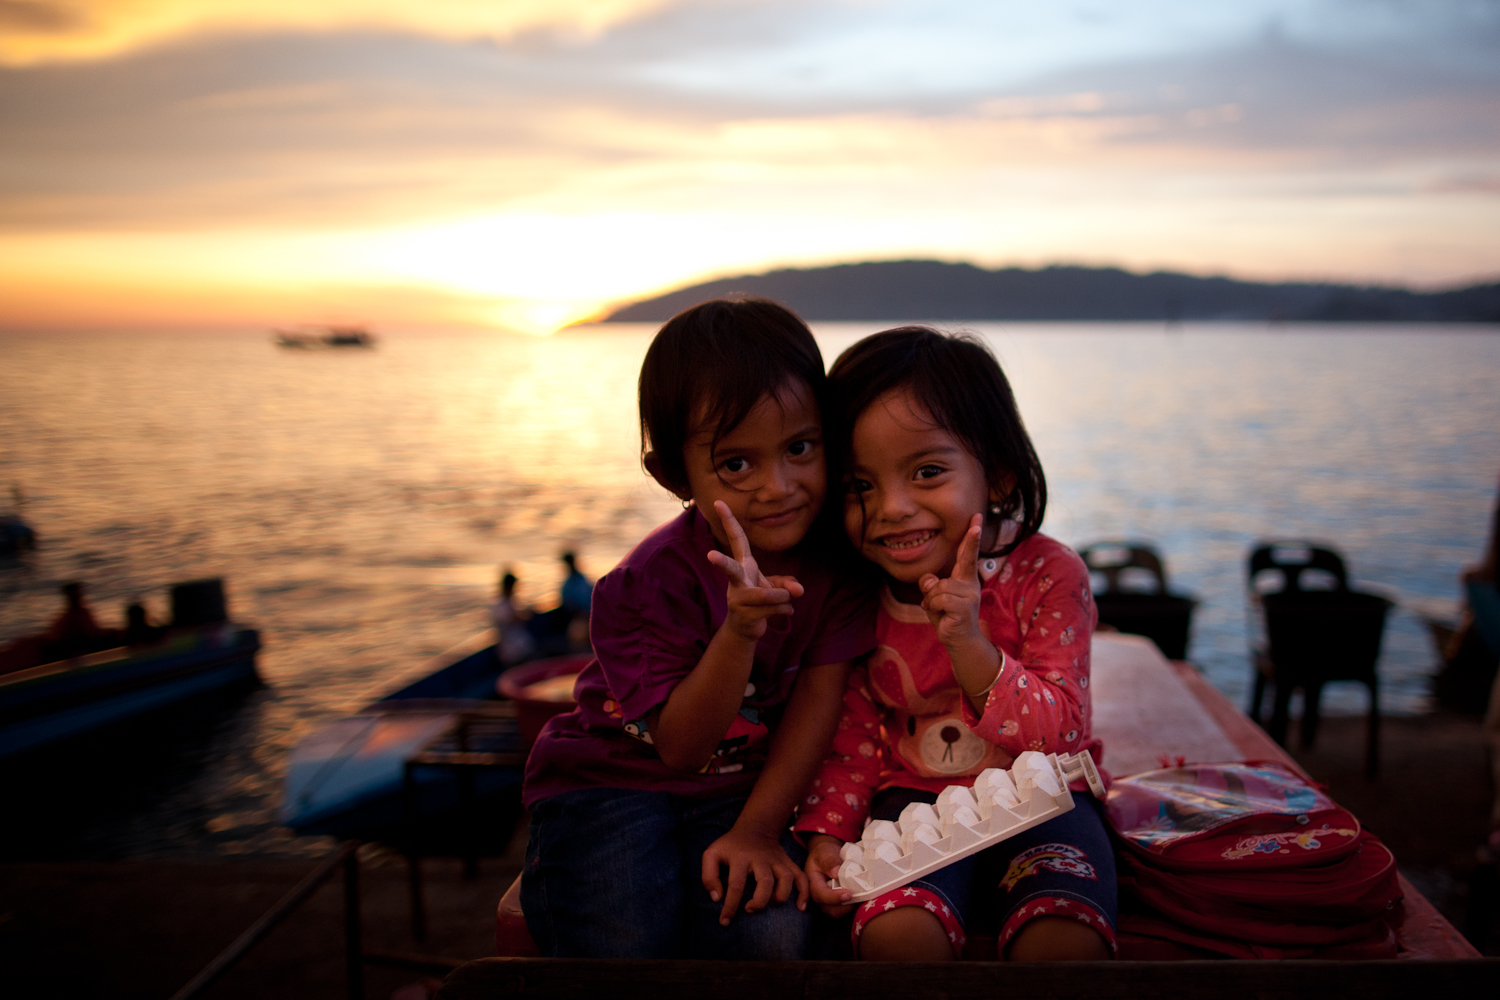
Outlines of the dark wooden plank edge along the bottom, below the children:
{"label": "dark wooden plank edge along the bottom, below the children", "polygon": [[1500,960],[1431,963],[712,963],[483,958],[440,1000],[1412,1000],[1500,996]]}

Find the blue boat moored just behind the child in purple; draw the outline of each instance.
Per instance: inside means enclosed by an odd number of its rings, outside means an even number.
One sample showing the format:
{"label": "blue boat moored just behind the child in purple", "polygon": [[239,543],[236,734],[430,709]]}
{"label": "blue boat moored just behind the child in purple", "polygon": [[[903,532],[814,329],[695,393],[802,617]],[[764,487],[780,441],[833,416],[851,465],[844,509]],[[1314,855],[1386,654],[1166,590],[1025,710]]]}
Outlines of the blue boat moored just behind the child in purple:
{"label": "blue boat moored just behind the child in purple", "polygon": [[[591,655],[512,670],[550,681],[538,700],[558,711],[572,706],[572,696],[556,697],[556,679],[576,675]],[[502,696],[502,670],[494,633],[486,631],[358,712],[320,726],[291,751],[280,822],[298,834],[390,843],[405,840],[417,820],[429,829],[453,828],[453,814],[480,810],[496,817],[484,822],[488,829],[508,835],[506,819],[513,823],[519,814],[526,751],[546,706],[538,715],[531,699]],[[450,816],[454,823],[446,822]]]}

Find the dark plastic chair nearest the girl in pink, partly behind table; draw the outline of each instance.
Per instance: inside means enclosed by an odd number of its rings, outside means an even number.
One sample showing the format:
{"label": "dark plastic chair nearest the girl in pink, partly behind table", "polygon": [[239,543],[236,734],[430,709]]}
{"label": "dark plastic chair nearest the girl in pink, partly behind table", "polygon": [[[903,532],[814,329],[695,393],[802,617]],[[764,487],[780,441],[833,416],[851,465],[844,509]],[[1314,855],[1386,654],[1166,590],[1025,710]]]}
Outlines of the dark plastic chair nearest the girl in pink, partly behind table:
{"label": "dark plastic chair nearest the girl in pink, partly behind table", "polygon": [[1167,570],[1150,544],[1096,541],[1078,555],[1098,577],[1094,604],[1102,624],[1150,639],[1168,660],[1186,658],[1197,601],[1167,592]]}

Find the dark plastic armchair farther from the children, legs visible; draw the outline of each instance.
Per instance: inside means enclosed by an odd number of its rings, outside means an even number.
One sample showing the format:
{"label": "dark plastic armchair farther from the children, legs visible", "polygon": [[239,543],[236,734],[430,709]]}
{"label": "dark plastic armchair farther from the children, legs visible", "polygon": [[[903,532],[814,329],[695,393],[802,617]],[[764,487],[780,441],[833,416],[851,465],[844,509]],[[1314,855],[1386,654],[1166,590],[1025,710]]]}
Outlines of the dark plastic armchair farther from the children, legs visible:
{"label": "dark plastic armchair farther from the children, legs visible", "polygon": [[[1251,646],[1256,688],[1250,717],[1260,723],[1266,684],[1272,687],[1266,732],[1286,744],[1292,693],[1302,688],[1302,745],[1317,739],[1318,703],[1330,681],[1359,681],[1370,688],[1365,774],[1380,765],[1380,640],[1390,601],[1348,589],[1344,559],[1332,549],[1304,541],[1263,543],[1250,555],[1250,600],[1264,622],[1264,637]],[[1308,586],[1310,583],[1322,586]]]}

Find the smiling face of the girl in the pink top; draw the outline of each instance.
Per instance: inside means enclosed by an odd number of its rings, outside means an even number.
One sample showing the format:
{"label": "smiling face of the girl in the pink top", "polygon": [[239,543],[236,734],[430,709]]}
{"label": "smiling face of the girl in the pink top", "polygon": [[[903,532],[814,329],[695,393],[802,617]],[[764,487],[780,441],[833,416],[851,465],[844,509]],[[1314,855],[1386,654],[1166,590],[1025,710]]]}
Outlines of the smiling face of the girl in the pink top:
{"label": "smiling face of the girl in the pink top", "polygon": [[992,499],[978,459],[906,390],[866,408],[852,444],[844,529],[860,553],[897,583],[952,573],[970,519]]}

